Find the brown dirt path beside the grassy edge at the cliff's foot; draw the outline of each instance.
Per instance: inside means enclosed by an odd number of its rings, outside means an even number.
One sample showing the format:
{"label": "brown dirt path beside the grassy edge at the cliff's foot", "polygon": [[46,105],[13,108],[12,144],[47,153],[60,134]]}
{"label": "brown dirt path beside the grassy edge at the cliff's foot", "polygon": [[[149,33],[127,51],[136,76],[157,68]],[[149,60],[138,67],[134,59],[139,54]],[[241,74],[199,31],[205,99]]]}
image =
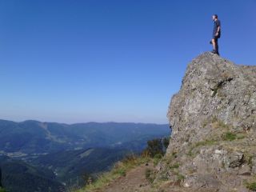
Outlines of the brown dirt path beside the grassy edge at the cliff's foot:
{"label": "brown dirt path beside the grassy edge at the cliff's foot", "polygon": [[153,164],[138,166],[126,173],[126,176],[118,178],[98,192],[148,192],[150,183],[146,180],[146,169],[153,169]]}

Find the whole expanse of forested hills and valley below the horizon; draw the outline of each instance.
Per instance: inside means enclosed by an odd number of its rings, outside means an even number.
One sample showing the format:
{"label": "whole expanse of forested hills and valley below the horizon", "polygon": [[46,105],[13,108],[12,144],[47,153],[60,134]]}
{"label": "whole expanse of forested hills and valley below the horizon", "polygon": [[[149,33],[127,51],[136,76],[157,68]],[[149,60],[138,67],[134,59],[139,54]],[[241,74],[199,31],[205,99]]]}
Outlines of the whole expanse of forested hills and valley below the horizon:
{"label": "whole expanse of forested hills and valley below the horizon", "polygon": [[10,192],[68,191],[138,154],[168,125],[0,120],[2,185]]}

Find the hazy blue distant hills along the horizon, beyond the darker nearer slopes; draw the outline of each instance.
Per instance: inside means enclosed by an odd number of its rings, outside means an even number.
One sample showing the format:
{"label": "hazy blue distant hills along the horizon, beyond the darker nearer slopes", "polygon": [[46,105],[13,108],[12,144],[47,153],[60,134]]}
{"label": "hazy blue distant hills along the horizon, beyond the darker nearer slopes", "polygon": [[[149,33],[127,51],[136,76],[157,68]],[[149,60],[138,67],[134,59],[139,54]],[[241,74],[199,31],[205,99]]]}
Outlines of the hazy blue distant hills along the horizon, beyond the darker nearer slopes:
{"label": "hazy blue distant hills along the horizon, beyond the darker nearer slopes", "polygon": [[[0,150],[25,154],[116,146],[142,150],[150,138],[168,134],[167,125],[157,124],[88,122],[67,125],[0,120]],[[137,144],[132,146],[130,142]]]}

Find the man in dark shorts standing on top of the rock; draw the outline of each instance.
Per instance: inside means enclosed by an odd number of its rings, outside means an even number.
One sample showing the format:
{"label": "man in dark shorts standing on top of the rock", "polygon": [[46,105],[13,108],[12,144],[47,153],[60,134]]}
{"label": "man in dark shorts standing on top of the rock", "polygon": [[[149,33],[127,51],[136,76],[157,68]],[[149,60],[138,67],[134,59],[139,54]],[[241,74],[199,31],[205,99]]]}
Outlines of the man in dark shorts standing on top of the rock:
{"label": "man in dark shorts standing on top of the rock", "polygon": [[218,15],[214,14],[213,15],[213,20],[214,20],[214,31],[213,31],[213,37],[210,41],[210,44],[213,44],[214,50],[212,53],[218,54],[218,38],[221,37],[221,22],[218,20]]}

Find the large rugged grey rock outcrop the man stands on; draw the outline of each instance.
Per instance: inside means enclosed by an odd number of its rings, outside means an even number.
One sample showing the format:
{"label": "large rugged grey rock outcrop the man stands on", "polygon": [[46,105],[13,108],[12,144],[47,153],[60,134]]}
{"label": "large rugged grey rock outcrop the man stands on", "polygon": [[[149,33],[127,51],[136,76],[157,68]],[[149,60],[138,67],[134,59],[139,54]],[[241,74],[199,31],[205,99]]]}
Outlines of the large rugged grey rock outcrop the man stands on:
{"label": "large rugged grey rock outcrop the man stands on", "polygon": [[167,117],[172,136],[155,182],[178,191],[256,190],[256,66],[199,55]]}

